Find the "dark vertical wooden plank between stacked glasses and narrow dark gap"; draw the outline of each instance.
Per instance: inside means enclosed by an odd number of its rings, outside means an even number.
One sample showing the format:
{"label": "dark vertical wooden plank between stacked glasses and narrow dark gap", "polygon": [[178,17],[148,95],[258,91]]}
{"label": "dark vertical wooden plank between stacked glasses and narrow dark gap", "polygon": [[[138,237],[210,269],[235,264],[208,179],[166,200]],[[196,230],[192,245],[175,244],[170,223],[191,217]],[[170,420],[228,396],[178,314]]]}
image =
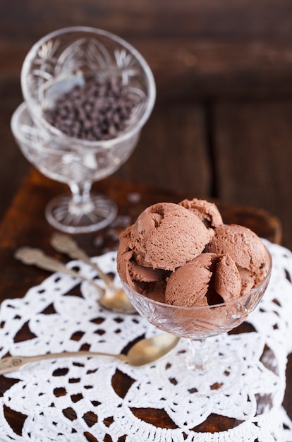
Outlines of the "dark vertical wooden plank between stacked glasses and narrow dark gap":
{"label": "dark vertical wooden plank between stacked glasses and narrow dark gap", "polygon": [[204,107],[157,104],[116,177],[177,193],[209,195],[212,170]]}

